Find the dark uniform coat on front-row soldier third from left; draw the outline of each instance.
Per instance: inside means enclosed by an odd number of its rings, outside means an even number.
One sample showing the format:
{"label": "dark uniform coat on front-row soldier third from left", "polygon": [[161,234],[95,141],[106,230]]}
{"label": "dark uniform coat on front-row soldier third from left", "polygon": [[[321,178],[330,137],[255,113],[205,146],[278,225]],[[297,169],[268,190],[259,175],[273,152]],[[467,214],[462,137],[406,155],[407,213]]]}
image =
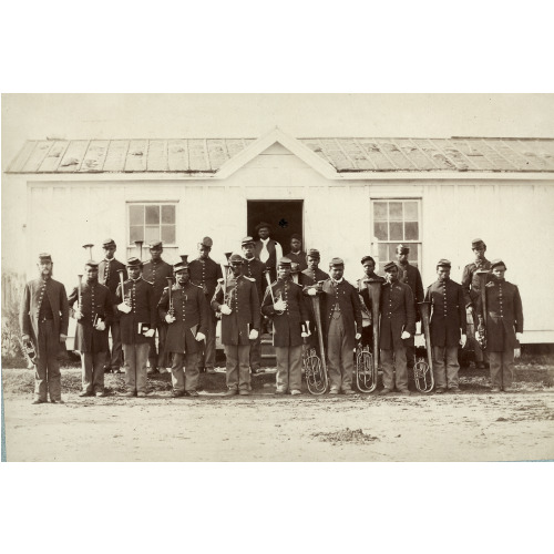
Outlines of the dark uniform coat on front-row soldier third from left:
{"label": "dark uniform coat on front-row soldier third from left", "polygon": [[[138,334],[138,324],[147,324],[151,329],[155,329],[156,327],[154,286],[142,277],[138,277],[136,280],[127,279],[123,285],[124,296],[130,299],[132,310],[129,314],[124,314],[114,306],[114,310],[121,314],[121,342],[123,345],[148,342],[151,339],[143,334]],[[115,301],[117,305],[123,301],[121,285],[115,291]]]}

